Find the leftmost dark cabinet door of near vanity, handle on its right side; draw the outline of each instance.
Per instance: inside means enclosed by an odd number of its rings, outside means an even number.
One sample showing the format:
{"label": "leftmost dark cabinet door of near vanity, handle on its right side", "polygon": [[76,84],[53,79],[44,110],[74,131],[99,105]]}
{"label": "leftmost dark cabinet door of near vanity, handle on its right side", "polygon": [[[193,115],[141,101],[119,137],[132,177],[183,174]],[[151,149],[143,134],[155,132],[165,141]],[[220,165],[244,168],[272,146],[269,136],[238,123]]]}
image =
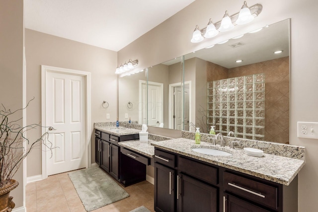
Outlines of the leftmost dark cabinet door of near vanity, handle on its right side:
{"label": "leftmost dark cabinet door of near vanity, handle on its right side", "polygon": [[155,211],[174,212],[175,171],[155,163]]}

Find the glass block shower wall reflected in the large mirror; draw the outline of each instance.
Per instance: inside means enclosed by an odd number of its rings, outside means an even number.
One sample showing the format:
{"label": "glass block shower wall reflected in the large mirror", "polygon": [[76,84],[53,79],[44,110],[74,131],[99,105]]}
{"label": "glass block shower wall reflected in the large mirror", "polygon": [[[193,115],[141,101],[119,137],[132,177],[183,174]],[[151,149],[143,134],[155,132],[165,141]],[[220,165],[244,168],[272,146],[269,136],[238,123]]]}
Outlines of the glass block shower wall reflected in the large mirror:
{"label": "glass block shower wall reflected in the large mirror", "polygon": [[216,132],[264,140],[265,74],[208,82],[208,122]]}

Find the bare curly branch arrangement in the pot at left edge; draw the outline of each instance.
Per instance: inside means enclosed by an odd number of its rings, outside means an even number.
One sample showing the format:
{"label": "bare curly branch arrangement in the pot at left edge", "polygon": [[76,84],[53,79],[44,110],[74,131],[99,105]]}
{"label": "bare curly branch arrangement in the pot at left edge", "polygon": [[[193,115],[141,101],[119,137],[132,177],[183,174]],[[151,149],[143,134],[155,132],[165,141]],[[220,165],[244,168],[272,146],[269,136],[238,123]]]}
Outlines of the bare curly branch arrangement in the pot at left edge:
{"label": "bare curly branch arrangement in the pot at left edge", "polygon": [[[19,122],[21,122],[22,118],[13,118],[19,111],[25,110],[26,107],[17,109],[13,112],[7,110],[3,104],[2,108],[0,108],[0,188],[9,184],[10,180],[22,164],[23,159],[26,158],[33,148],[37,146],[40,146],[41,148],[43,143],[48,147],[52,155],[53,147],[52,143],[48,141],[48,133],[43,134],[36,141],[29,141],[29,139],[25,137],[27,131],[37,127],[42,128],[43,126],[32,124],[21,127]],[[29,145],[28,148],[24,148],[23,142],[31,145]]]}

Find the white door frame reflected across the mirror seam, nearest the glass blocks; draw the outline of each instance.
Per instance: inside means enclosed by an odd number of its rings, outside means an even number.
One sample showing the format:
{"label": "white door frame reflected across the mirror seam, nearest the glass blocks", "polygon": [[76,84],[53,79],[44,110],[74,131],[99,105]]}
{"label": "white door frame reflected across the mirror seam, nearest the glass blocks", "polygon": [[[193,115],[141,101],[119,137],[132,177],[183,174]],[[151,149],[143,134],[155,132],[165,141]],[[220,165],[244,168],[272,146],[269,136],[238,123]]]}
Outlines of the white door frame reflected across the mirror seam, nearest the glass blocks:
{"label": "white door frame reflected across the mirror seam, nearest the glass blocks", "polygon": [[[184,84],[189,84],[189,122],[191,122],[191,81],[185,81]],[[168,122],[169,122],[169,129],[173,129],[173,119],[172,119],[172,104],[173,104],[173,94],[172,94],[172,91],[173,91],[173,88],[174,87],[179,87],[181,86],[181,82],[177,82],[177,83],[172,83],[172,84],[169,84],[169,109],[168,109]],[[184,89],[183,91],[184,92]],[[184,107],[183,107],[184,108]],[[184,120],[182,120],[182,126],[184,126]],[[183,127],[182,127],[182,130],[183,130]]]}

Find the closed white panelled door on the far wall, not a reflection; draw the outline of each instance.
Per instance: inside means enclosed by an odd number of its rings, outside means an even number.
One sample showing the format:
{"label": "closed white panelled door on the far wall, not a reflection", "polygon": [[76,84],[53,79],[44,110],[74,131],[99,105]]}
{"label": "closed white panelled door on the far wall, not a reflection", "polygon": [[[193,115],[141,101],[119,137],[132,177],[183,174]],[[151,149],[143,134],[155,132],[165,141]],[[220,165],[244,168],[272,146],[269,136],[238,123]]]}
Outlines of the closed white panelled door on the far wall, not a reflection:
{"label": "closed white panelled door on the far wall, not a reflection", "polygon": [[84,76],[47,72],[46,126],[53,154],[46,153],[47,175],[85,167]]}

